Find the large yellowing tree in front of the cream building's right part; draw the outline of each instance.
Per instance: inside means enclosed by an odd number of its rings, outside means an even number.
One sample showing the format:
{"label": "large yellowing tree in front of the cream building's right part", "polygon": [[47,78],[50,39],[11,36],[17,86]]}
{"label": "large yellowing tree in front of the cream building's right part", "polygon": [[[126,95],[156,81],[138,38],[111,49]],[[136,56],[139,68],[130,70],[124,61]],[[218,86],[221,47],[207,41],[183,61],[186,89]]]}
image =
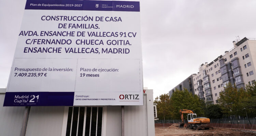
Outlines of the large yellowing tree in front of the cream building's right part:
{"label": "large yellowing tree in front of the cream building's right part", "polygon": [[226,116],[242,115],[245,116],[244,100],[249,97],[249,93],[243,88],[237,89],[231,83],[224,87],[224,91],[219,94],[218,102]]}

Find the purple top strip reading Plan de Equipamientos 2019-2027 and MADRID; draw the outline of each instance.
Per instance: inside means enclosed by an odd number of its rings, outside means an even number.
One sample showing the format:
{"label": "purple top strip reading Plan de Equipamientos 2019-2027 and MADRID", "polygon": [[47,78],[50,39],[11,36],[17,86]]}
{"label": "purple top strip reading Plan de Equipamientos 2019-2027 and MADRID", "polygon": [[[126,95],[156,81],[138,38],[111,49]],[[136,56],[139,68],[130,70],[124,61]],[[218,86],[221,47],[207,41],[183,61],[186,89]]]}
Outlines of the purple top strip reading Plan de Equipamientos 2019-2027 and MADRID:
{"label": "purple top strip reading Plan de Equipamientos 2019-2027 and MADRID", "polygon": [[80,10],[140,12],[139,1],[27,0],[25,10]]}

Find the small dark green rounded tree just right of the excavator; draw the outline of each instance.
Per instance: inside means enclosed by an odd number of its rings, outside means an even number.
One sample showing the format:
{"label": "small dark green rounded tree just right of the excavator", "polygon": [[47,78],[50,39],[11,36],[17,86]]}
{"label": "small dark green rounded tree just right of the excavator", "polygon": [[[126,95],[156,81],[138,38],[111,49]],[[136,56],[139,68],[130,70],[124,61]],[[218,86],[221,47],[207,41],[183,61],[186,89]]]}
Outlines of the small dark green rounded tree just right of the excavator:
{"label": "small dark green rounded tree just right of the excavator", "polygon": [[208,117],[210,119],[222,118],[223,115],[222,109],[218,104],[207,105],[204,114],[205,117]]}

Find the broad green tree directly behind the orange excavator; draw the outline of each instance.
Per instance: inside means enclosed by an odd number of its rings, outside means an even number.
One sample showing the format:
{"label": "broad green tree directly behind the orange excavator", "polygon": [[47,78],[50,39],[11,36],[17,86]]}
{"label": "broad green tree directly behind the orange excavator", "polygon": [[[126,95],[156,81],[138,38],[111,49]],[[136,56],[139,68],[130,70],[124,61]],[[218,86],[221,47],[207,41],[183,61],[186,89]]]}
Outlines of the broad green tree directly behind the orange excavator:
{"label": "broad green tree directly behind the orange excavator", "polygon": [[186,88],[184,90],[176,89],[171,97],[171,114],[174,119],[180,119],[180,109],[189,109],[193,110],[198,117],[204,116],[205,103],[203,100],[200,100],[197,95],[194,95]]}

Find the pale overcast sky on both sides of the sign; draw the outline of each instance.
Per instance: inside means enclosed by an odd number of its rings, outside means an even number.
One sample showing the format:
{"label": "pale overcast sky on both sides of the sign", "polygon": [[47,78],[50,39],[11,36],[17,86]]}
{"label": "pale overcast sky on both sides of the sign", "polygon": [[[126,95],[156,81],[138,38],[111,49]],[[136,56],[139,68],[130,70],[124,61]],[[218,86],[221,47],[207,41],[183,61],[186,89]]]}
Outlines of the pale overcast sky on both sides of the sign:
{"label": "pale overcast sky on both sides of the sign", "polygon": [[[0,0],[0,88],[8,83],[26,0]],[[143,0],[143,84],[154,98],[233,47],[256,38],[255,0]]]}

